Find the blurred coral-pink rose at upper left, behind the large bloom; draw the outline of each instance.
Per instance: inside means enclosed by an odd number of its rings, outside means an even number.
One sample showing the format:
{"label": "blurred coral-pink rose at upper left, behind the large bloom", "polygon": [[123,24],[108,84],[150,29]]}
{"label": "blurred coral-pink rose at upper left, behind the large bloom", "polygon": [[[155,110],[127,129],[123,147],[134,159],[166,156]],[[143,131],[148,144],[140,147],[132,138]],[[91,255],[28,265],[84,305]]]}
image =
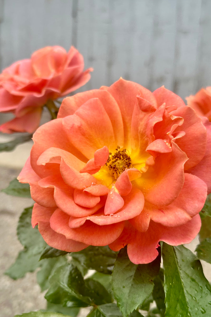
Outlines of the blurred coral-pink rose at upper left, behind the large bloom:
{"label": "blurred coral-pink rose at upper left, behind the large bloom", "polygon": [[31,59],[17,61],[0,74],[0,112],[11,112],[15,119],[0,126],[4,133],[34,132],[40,123],[42,107],[90,79],[83,72],[83,56],[73,46],[66,53],[60,46],[34,52]]}

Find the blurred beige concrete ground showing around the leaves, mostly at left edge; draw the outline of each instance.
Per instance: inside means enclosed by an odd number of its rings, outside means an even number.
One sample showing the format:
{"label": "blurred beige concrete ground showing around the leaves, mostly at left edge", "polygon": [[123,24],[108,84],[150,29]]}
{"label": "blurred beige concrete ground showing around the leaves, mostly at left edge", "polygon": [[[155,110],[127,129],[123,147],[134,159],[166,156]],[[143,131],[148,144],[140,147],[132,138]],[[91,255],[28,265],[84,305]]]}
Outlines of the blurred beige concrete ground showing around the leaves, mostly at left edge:
{"label": "blurred beige concrete ground showing around the leaves, mostly at left edge", "polygon": [[[0,134],[0,143],[13,139],[14,135]],[[33,142],[29,141],[16,147],[12,152],[0,152],[0,190],[6,188],[9,182],[19,175],[27,160]],[[14,281],[4,275],[4,271],[15,261],[21,244],[16,237],[16,226],[22,210],[32,205],[29,198],[8,196],[0,192],[0,317],[13,317],[29,311],[45,308],[44,295],[40,294],[40,287],[36,282],[36,273],[28,273],[24,278]],[[197,238],[187,245],[194,251]],[[203,262],[203,261],[202,261]],[[210,265],[202,263],[204,273],[211,281]],[[87,310],[80,316],[86,316]]]}

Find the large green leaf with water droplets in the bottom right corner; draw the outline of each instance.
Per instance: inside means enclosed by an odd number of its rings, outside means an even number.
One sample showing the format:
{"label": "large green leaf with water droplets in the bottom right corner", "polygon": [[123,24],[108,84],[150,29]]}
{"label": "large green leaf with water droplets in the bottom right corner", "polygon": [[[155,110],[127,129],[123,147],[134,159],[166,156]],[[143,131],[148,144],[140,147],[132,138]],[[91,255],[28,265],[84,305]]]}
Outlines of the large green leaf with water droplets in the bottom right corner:
{"label": "large green leaf with water droplets in the bottom right corner", "polygon": [[210,317],[211,286],[202,265],[184,246],[163,243],[166,317]]}

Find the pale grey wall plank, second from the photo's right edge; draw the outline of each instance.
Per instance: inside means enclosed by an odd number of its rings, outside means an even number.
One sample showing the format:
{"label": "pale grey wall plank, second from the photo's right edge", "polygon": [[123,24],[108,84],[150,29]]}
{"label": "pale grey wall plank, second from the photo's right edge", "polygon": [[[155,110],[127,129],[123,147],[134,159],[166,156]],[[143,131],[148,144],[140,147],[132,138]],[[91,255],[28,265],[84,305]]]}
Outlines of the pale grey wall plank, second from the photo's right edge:
{"label": "pale grey wall plank, second from the photo's right edge", "polygon": [[201,0],[177,0],[174,82],[172,90],[182,98],[192,94],[196,80]]}

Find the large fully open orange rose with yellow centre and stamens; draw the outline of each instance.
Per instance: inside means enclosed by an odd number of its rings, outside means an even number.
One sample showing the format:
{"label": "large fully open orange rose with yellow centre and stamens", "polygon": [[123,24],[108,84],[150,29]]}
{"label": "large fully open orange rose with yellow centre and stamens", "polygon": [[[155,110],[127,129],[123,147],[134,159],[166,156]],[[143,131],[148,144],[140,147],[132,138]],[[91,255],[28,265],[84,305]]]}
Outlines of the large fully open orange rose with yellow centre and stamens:
{"label": "large fully open orange rose with yellow centre and stamens", "polygon": [[123,79],[65,98],[19,175],[36,202],[33,227],[66,251],[127,245],[136,264],[153,261],[161,240],[189,243],[211,191],[205,125],[164,87]]}

